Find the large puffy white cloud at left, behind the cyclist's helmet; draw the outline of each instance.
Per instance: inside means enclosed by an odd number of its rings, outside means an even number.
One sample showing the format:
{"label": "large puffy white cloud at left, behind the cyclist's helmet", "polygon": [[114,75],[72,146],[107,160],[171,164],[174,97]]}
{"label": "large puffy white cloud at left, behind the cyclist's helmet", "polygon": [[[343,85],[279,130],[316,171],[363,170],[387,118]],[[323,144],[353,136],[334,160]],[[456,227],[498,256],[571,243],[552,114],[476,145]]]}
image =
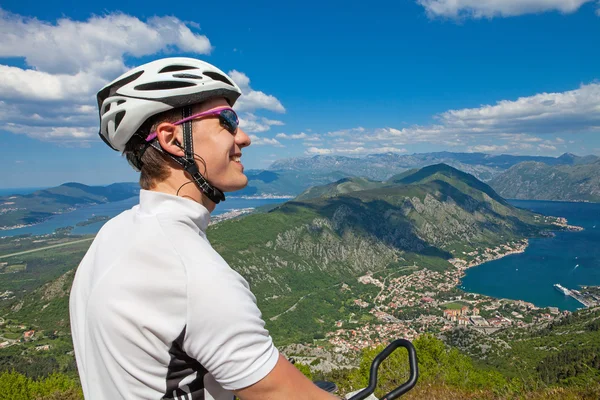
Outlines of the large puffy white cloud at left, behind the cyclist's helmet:
{"label": "large puffy white cloud at left, behind the cyclist's helmet", "polygon": [[[23,59],[27,67],[0,64],[0,123],[5,130],[42,140],[97,140],[96,92],[125,72],[128,57],[158,53],[209,54],[197,23],[175,17],[146,20],[123,13],[93,16],[85,21],[55,22],[23,17],[0,8],[0,58]],[[157,56],[158,58],[158,56]],[[243,73],[246,110],[285,111],[273,96],[254,91]],[[249,132],[283,122],[245,118]]]}

